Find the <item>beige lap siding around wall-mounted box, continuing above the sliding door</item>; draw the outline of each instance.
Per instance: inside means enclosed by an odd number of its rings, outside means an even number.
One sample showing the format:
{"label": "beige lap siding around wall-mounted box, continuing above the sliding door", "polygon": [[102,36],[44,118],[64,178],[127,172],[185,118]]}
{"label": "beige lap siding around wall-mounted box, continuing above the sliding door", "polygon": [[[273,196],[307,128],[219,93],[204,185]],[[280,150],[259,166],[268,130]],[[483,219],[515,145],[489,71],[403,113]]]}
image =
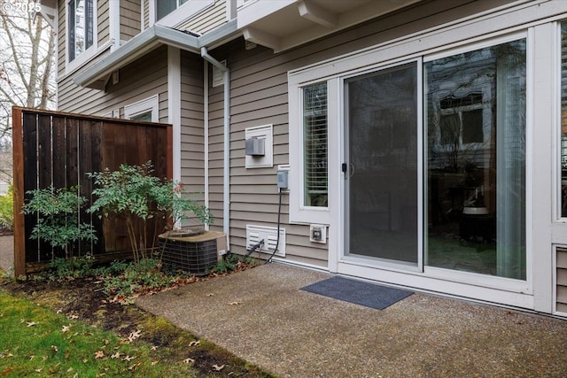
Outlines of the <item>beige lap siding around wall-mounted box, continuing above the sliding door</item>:
{"label": "beige lap siding around wall-mounted box, continuing above the sliding door", "polygon": [[[464,3],[464,4],[463,4]],[[245,251],[247,224],[276,227],[277,165],[288,164],[288,93],[290,70],[386,42],[440,23],[482,12],[491,2],[462,2],[439,13],[435,4],[421,4],[389,18],[353,27],[294,50],[274,54],[261,46],[245,50],[242,39],[213,51],[227,58],[230,68],[230,243],[231,251]],[[209,74],[209,82],[210,82]],[[210,89],[210,206],[222,211],[222,88]],[[274,167],[245,168],[245,128],[272,124]],[[288,196],[283,195],[282,227],[286,229],[286,255],[294,261],[326,266],[328,245],[309,242],[307,225],[289,224]],[[221,224],[221,223],[217,223]],[[333,235],[329,236],[330,238]]]}

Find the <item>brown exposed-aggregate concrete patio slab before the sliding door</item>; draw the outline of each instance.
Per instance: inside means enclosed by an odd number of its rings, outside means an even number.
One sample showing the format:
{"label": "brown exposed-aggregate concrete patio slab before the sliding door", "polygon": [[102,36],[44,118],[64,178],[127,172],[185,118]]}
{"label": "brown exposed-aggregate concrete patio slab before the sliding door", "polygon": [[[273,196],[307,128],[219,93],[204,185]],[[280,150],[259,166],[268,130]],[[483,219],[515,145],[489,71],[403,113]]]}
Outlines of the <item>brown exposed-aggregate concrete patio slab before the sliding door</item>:
{"label": "brown exposed-aggregate concrete patio slab before the sliding door", "polygon": [[384,310],[272,263],[136,301],[281,377],[567,376],[567,321],[416,293]]}

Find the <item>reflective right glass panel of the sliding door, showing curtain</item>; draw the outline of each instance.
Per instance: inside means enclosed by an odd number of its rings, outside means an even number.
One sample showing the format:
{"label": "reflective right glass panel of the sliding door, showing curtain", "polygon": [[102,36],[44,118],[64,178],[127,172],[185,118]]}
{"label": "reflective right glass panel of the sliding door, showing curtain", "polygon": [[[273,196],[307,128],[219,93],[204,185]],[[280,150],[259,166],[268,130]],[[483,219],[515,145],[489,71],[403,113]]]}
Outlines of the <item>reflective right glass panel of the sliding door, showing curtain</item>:
{"label": "reflective right glass panel of the sliding door, showing curtain", "polygon": [[424,65],[426,264],[525,279],[525,41]]}

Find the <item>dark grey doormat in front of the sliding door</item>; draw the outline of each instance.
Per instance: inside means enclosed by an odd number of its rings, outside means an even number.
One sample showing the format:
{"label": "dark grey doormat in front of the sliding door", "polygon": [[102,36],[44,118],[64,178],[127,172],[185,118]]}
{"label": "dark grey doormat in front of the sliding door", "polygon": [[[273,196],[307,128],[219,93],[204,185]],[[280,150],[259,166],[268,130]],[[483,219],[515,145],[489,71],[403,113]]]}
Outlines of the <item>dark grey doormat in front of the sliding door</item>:
{"label": "dark grey doormat in front of the sliding door", "polygon": [[343,277],[332,277],[301,289],[356,305],[376,308],[377,310],[384,310],[384,308],[413,294],[413,291],[388,288],[370,282],[349,280]]}

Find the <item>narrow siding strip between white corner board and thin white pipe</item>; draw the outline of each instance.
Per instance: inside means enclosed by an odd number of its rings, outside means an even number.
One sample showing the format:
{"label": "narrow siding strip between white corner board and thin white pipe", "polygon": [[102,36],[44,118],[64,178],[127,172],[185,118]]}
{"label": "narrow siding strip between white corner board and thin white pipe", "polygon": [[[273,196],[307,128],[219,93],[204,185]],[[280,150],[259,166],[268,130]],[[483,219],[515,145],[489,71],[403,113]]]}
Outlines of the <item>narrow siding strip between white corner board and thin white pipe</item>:
{"label": "narrow siding strip between white corner board and thin white pipe", "polygon": [[[203,128],[203,61],[195,54],[181,53],[181,181],[191,196],[204,200],[205,138]],[[216,215],[216,214],[214,214]],[[186,220],[183,226],[194,226]]]}

